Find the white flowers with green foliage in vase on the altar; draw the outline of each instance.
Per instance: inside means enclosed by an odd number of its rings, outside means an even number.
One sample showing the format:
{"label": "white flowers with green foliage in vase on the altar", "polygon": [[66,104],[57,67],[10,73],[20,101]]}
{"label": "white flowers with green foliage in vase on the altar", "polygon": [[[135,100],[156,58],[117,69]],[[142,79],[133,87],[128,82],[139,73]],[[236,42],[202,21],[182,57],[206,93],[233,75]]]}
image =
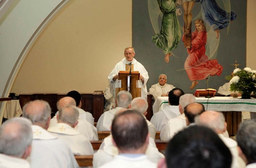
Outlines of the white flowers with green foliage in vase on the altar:
{"label": "white flowers with green foliage in vase on the altar", "polygon": [[228,75],[225,79],[230,80],[230,91],[238,91],[242,98],[251,98],[251,93],[256,94],[256,70],[251,68],[236,68],[233,76]]}

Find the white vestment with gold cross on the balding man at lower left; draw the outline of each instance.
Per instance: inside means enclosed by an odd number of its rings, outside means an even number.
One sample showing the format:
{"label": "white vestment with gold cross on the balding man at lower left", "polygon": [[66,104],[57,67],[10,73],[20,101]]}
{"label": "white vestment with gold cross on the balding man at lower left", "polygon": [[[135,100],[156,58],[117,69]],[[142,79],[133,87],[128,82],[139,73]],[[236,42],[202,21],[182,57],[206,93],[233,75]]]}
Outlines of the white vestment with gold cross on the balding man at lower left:
{"label": "white vestment with gold cross on the balding man at lower left", "polygon": [[32,125],[32,131],[32,151],[27,158],[31,168],[79,168],[73,152],[64,140],[37,125]]}

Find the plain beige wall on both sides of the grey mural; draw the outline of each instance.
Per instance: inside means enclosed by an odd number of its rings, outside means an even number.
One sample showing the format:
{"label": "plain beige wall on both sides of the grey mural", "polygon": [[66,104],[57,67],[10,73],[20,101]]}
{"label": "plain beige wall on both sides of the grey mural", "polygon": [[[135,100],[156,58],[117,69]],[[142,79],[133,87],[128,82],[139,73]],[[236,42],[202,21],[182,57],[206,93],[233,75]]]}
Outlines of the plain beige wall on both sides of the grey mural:
{"label": "plain beige wall on both sides of the grey mural", "polygon": [[[256,1],[247,2],[247,66],[256,69]],[[132,44],[132,0],[74,0],[30,50],[11,92],[93,93]]]}

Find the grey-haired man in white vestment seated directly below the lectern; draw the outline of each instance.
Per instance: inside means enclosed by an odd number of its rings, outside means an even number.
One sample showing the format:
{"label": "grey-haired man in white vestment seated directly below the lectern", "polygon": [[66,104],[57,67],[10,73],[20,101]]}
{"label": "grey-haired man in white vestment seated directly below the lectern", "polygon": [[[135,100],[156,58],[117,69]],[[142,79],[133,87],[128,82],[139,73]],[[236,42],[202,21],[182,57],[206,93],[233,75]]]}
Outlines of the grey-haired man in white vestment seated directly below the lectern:
{"label": "grey-haired man in white vestment seated directly below the lectern", "polygon": [[97,122],[98,131],[110,131],[110,126],[112,124],[114,115],[116,112],[123,108],[128,108],[132,102],[132,95],[128,91],[120,91],[116,96],[117,107],[104,112]]}

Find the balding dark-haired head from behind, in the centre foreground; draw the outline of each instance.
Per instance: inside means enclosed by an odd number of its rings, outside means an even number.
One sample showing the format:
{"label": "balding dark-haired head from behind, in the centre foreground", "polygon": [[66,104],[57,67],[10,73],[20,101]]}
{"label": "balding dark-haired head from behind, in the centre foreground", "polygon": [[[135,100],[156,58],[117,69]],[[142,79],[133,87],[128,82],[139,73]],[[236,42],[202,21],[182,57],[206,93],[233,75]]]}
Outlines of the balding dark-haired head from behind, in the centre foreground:
{"label": "balding dark-haired head from behind, in the centre foreground", "polygon": [[112,122],[111,133],[120,153],[144,153],[149,143],[147,122],[136,110],[117,114]]}

